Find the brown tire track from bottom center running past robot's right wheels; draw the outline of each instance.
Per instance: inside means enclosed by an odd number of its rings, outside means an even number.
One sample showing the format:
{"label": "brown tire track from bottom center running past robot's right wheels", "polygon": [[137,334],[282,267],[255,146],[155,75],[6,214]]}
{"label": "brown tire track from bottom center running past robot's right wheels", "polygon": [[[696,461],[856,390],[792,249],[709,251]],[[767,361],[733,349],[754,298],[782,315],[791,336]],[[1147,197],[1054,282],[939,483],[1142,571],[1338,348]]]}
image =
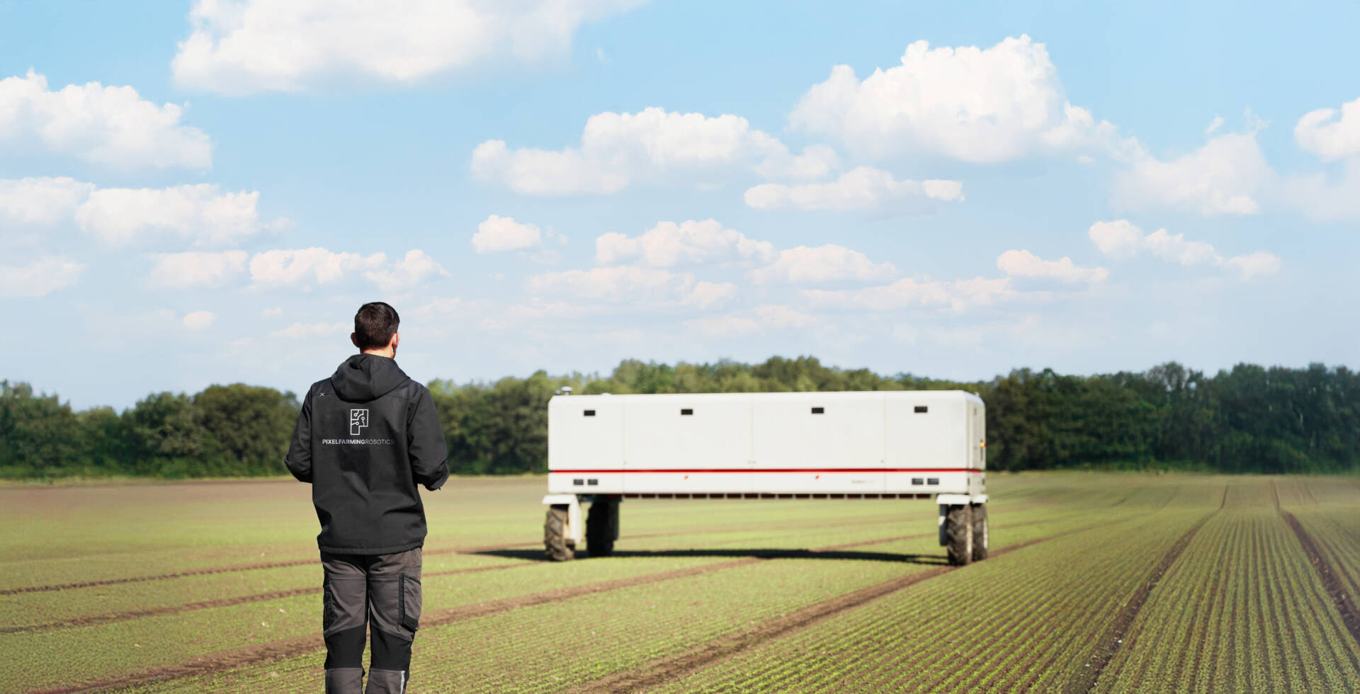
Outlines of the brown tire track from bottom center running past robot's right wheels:
{"label": "brown tire track from bottom center running past robot's right wheels", "polygon": [[[1025,547],[1064,538],[1066,535],[1089,531],[1114,523],[1122,523],[1123,520],[1104,521],[1084,528],[1076,528],[1072,531],[1049,535],[1046,538],[1035,538],[1032,540],[1025,540],[1019,544],[1012,544],[1009,547],[993,550],[990,552],[990,558],[1002,557],[1016,550],[1023,550]],[[900,578],[894,578],[891,581],[885,581],[877,585],[861,588],[851,593],[846,593],[838,597],[832,597],[830,600],[823,600],[820,603],[815,603],[808,607],[796,610],[793,612],[789,612],[787,615],[767,619],[753,627],[743,629],[737,633],[706,641],[681,653],[673,656],[664,656],[651,660],[649,663],[643,663],[641,665],[630,668],[627,672],[615,672],[611,675],[605,675],[604,678],[585,683],[579,687],[573,687],[571,691],[604,694],[613,691],[638,691],[638,690],[645,690],[647,687],[664,684],[673,679],[709,668],[715,663],[718,663],[719,660],[725,660],[748,648],[768,641],[774,641],[777,638],[782,638],[794,631],[801,631],[806,627],[824,622],[847,610],[865,606],[868,603],[879,600],[880,597],[887,597],[888,595],[892,595],[904,588],[910,588],[911,585],[919,584],[929,578],[934,578],[937,576],[947,574],[949,572],[956,572],[959,569],[963,567],[937,566],[934,569],[926,569],[923,572],[914,573],[911,576],[903,576]]]}

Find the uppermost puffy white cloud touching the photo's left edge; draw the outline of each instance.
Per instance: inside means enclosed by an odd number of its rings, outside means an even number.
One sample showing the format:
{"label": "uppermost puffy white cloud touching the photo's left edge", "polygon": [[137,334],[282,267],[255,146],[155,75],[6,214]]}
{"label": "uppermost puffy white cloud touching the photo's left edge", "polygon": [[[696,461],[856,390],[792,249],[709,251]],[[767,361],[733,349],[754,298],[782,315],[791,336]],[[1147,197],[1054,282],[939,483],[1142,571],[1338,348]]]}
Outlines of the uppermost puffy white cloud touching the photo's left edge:
{"label": "uppermost puffy white cloud touching the photo's left edge", "polygon": [[182,118],[182,106],[156,106],[132,87],[52,91],[31,69],[0,79],[0,151],[37,148],[117,169],[211,167],[212,143]]}

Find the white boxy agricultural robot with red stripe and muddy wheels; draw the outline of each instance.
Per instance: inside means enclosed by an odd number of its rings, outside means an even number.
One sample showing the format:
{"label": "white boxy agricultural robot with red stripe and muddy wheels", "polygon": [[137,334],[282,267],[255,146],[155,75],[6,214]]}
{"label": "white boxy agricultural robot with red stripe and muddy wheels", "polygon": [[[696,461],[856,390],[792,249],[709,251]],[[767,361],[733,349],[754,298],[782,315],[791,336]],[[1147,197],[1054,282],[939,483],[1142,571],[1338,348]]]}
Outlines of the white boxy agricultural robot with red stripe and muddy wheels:
{"label": "white boxy agricultural robot with red stripe and muddy wheels", "polygon": [[[564,395],[548,401],[548,558],[607,557],[619,501],[929,499],[949,563],[987,557],[982,399],[962,391]],[[590,503],[582,521],[581,505]]]}

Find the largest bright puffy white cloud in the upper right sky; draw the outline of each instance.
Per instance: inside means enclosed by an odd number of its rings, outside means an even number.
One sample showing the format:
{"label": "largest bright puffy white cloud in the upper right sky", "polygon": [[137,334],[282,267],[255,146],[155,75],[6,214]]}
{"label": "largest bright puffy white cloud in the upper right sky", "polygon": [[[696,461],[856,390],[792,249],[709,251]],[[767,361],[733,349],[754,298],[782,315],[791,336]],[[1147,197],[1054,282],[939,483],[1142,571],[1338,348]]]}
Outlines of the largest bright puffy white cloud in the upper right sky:
{"label": "largest bright puffy white cloud in the upper right sky", "polygon": [[1028,35],[986,49],[917,41],[900,65],[864,80],[836,65],[802,95],[789,124],[868,156],[926,151],[990,163],[1046,148],[1115,158],[1137,150],[1114,125],[1068,103],[1047,49]]}

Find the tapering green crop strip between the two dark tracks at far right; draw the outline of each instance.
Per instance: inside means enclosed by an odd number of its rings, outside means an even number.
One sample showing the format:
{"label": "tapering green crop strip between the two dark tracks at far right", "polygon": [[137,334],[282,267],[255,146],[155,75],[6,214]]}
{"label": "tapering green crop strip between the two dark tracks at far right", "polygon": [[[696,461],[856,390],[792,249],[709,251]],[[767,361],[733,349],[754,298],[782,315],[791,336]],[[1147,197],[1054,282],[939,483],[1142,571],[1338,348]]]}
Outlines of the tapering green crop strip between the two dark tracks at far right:
{"label": "tapering green crop strip between the two dark tracks at far right", "polygon": [[1345,691],[1360,682],[1356,644],[1269,486],[1243,486],[1167,572],[1102,691]]}

